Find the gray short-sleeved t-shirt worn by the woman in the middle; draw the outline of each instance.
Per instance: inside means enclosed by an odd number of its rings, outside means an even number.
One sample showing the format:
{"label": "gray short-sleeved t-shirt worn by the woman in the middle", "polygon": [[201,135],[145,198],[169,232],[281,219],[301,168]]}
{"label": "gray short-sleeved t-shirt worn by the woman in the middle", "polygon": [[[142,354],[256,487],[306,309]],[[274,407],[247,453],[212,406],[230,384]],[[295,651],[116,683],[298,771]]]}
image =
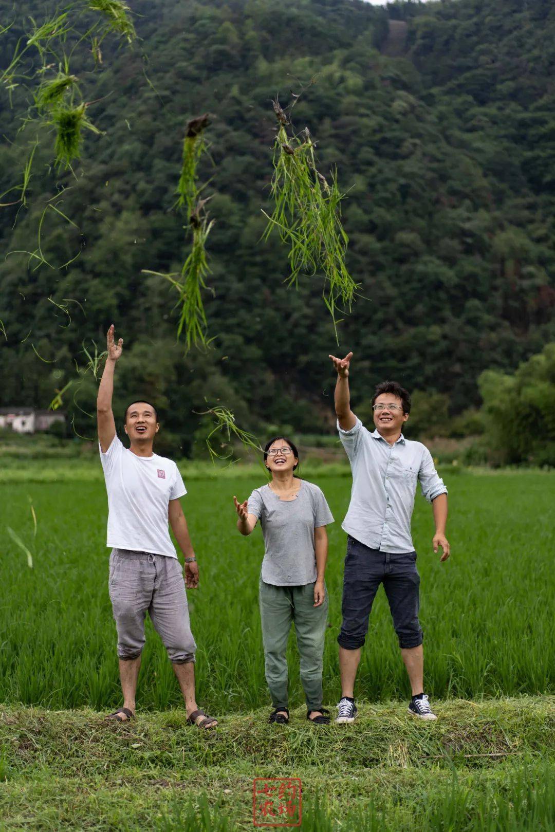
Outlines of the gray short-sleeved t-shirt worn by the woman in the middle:
{"label": "gray short-sleeved t-shirt worn by the woman in the middle", "polygon": [[315,528],[334,522],[320,488],[303,479],[294,500],[281,500],[263,485],[250,495],[247,510],[259,518],[264,535],[262,580],[276,587],[314,583]]}

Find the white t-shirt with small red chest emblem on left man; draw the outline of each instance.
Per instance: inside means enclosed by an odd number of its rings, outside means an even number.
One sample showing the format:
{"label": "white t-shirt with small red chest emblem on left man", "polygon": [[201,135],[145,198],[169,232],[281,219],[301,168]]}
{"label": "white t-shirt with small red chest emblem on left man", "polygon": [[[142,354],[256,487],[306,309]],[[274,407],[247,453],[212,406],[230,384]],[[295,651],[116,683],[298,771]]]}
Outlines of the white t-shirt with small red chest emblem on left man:
{"label": "white t-shirt with small red chest emblem on left man", "polygon": [[177,557],[168,529],[170,500],[186,488],[171,459],[138,457],[115,436],[100,458],[108,493],[107,546]]}

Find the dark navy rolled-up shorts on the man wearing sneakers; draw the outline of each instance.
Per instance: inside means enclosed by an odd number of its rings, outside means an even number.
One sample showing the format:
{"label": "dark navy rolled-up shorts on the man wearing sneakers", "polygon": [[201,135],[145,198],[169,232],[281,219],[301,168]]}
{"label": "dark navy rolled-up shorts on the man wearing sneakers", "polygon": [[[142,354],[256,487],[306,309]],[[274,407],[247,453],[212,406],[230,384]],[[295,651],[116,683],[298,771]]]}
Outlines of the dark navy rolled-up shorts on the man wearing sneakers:
{"label": "dark navy rolled-up shorts on the man wearing sneakers", "polygon": [[356,650],[364,644],[370,610],[380,583],[384,584],[399,646],[418,647],[422,644],[416,552],[379,552],[349,535],[341,607],[343,623],[337,638],[339,645],[347,650]]}

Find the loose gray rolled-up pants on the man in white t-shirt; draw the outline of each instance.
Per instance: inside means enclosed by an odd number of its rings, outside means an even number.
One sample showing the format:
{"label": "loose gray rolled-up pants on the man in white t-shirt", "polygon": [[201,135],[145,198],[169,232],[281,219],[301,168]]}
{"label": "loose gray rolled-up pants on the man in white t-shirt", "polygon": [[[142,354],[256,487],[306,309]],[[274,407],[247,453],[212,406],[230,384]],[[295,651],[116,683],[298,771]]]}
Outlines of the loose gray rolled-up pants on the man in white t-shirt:
{"label": "loose gray rolled-up pants on the man in white t-shirt", "polygon": [[112,549],[108,590],[120,659],[141,655],[148,612],[171,661],[195,661],[185,581],[176,557]]}

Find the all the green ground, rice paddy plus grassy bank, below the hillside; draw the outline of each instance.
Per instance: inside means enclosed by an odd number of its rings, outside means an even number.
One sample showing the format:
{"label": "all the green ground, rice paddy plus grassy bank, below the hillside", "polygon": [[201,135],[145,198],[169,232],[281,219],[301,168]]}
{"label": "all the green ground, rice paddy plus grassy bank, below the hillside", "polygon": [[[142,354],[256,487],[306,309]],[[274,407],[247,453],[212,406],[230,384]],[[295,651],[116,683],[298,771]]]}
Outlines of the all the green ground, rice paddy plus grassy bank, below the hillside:
{"label": "all the green ground, rice paddy plus grassy bank, below the hillside", "polygon": [[[106,725],[120,700],[102,478],[96,463],[3,465],[0,829],[250,829],[253,778],[295,776],[304,830],[555,830],[553,473],[442,472],[452,546],[444,564],[430,545],[431,509],[417,498],[425,676],[439,720],[423,725],[406,713],[409,690],[380,591],[359,720],[324,730],[305,719],[294,634],[291,724],[265,724],[262,543],[260,530],[240,537],[232,505],[262,473],[209,477],[187,464],[182,473],[201,572],[188,592],[198,701],[221,718],[211,735],[185,725],[150,625],[139,718]],[[325,702],[333,707],[350,478],[337,467],[304,475],[336,518],[326,577]]]}

